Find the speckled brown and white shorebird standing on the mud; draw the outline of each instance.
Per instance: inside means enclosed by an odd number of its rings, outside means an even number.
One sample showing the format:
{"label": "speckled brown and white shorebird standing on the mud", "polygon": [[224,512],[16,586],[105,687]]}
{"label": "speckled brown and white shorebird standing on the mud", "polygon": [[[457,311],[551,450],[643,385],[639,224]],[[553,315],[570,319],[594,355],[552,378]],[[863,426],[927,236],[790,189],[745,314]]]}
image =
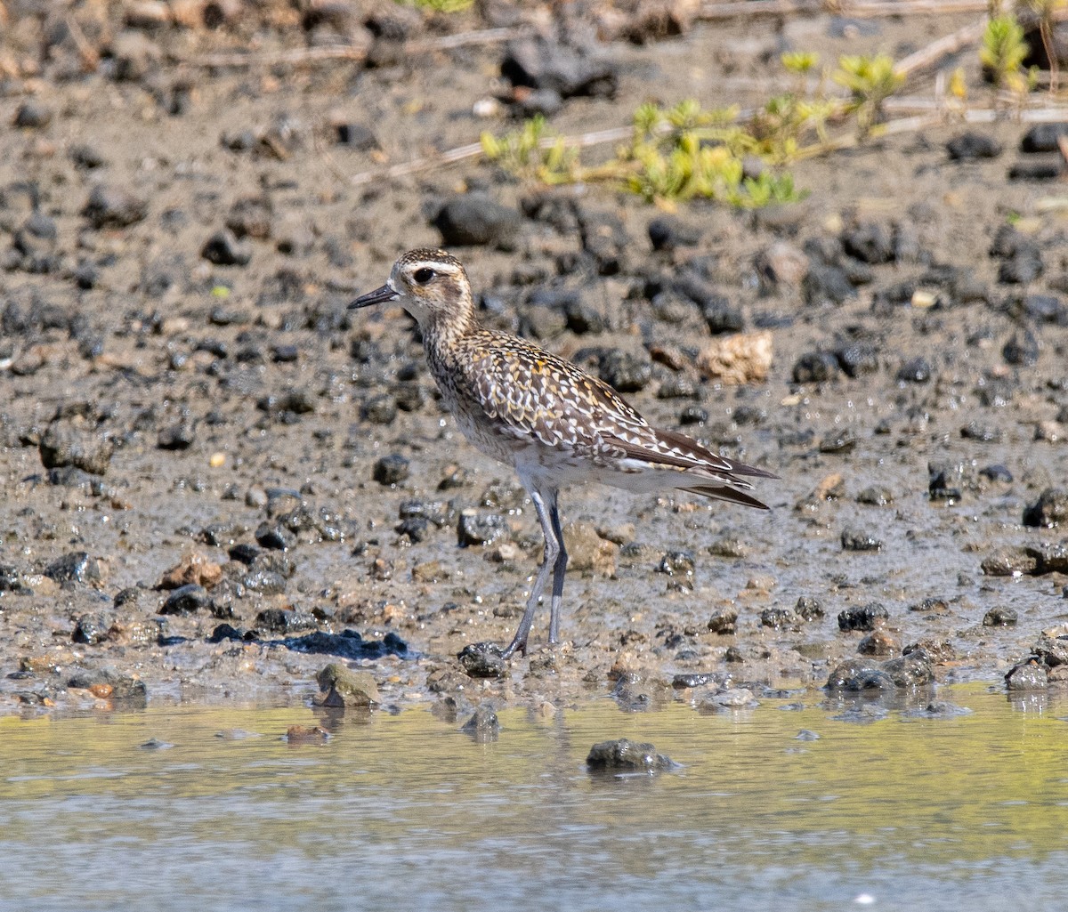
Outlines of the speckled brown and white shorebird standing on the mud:
{"label": "speckled brown and white shorebird standing on the mud", "polygon": [[513,466],[545,535],[545,556],[507,658],[527,654],[534,613],[552,571],[549,642],[560,633],[567,551],[561,487],[599,482],[639,493],[677,489],[767,509],[745,477],[776,475],[724,459],[676,430],[653,427],[596,377],[536,345],[480,326],[460,262],[443,250],[409,250],[380,288],[349,308],[397,301],[419,323],[438,389],[471,443]]}

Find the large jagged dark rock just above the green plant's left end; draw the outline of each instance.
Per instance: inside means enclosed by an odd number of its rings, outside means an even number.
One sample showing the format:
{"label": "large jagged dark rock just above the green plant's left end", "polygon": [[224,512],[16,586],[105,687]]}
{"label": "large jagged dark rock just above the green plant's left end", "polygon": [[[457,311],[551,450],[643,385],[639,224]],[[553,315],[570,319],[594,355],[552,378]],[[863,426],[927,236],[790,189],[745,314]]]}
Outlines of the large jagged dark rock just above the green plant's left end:
{"label": "large jagged dark rock just above the green plant's left end", "polygon": [[501,75],[513,85],[551,89],[563,98],[591,95],[611,98],[618,75],[615,65],[546,37],[509,42]]}

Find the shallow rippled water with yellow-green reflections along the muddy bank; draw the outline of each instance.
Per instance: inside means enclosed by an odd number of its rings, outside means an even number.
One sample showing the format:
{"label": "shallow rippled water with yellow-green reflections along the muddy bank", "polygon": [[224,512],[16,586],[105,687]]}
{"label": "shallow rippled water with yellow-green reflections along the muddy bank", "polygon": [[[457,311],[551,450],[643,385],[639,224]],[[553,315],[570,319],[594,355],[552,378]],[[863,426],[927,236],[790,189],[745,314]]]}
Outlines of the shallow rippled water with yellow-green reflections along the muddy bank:
{"label": "shallow rippled water with yellow-green reflections along the muddy bank", "polygon": [[[604,701],[487,744],[422,709],[2,718],[0,910],[1063,909],[1068,703],[940,696],[972,711]],[[592,777],[618,737],[682,766]]]}

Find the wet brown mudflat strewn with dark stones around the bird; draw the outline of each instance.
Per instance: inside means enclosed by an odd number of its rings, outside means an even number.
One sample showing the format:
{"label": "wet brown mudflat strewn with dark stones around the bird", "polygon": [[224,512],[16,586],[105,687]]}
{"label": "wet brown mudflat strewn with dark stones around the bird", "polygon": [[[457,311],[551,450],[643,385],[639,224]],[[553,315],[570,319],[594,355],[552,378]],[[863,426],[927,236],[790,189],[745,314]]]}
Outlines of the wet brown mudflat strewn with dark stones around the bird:
{"label": "wet brown mudflat strewn with dark stones around the bird", "polygon": [[[81,22],[90,69],[69,27],[9,10],[0,712],[308,699],[334,661],[402,706],[701,702],[815,692],[835,670],[844,692],[898,699],[1021,662],[1009,687],[1059,686],[1068,210],[1064,177],[1035,166],[1063,162],[1027,151],[1035,127],[947,120],[814,158],[792,169],[803,202],[754,210],[664,211],[474,160],[354,185],[516,123],[493,100],[503,43],[404,41],[556,32],[507,4],[396,21],[336,5],[347,18],[268,5],[210,29],[105,5]],[[751,106],[784,47],[900,57],[956,25],[823,15],[607,41],[588,60],[613,90],[561,99],[551,122],[608,128],[689,95]],[[307,51],[329,30],[380,58],[190,63],[253,38]],[[974,53],[957,62],[979,97]],[[956,157],[965,135],[985,152]],[[531,655],[489,677],[456,657],[511,639],[534,512],[443,412],[411,320],[346,310],[397,253],[446,240],[457,200],[499,219],[451,248],[487,324],[781,476],[756,492],[768,515],[565,491],[565,642],[541,648],[546,609]],[[739,331],[770,333],[773,358],[727,386],[702,352]]]}

